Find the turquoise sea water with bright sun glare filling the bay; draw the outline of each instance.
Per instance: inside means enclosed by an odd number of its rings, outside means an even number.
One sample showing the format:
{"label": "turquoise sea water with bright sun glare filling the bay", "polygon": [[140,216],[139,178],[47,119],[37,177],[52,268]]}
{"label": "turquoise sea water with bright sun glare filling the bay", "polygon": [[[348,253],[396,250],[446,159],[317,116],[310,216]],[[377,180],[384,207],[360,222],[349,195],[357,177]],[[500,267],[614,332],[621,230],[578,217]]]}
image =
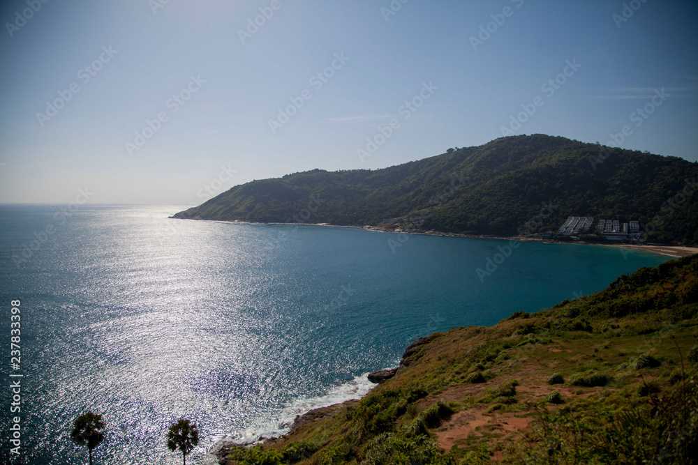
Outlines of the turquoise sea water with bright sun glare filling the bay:
{"label": "turquoise sea water with bright sun glare filling the bay", "polygon": [[[13,299],[21,463],[84,463],[68,433],[91,409],[107,422],[98,464],[181,463],[164,439],[181,417],[201,432],[188,462],[208,464],[223,436],[279,434],[363,395],[365,374],[419,336],[535,312],[668,259],[543,243],[505,257],[499,240],[167,218],[182,208],[0,206],[3,456]],[[481,280],[488,259],[500,264]]]}

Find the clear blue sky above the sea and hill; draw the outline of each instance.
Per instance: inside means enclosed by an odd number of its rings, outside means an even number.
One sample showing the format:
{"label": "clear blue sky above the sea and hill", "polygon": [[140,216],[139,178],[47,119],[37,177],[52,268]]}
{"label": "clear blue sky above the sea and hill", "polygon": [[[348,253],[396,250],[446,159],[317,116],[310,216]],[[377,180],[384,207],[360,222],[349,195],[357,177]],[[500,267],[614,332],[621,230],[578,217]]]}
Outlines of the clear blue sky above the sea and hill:
{"label": "clear blue sky above the sea and hill", "polygon": [[4,1],[0,202],[200,204],[503,127],[698,160],[695,1],[402,1]]}

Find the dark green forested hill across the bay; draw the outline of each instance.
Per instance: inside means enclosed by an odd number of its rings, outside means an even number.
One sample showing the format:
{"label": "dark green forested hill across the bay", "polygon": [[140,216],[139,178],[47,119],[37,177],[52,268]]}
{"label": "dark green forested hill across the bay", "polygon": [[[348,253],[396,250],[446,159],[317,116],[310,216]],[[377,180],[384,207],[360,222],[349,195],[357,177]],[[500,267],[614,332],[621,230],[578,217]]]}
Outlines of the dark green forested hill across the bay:
{"label": "dark green forested hill across the bay", "polygon": [[385,169],[253,181],[174,218],[511,236],[527,222],[537,232],[582,215],[639,220],[651,224],[650,240],[690,245],[698,243],[696,178],[698,163],[681,158],[523,135]]}

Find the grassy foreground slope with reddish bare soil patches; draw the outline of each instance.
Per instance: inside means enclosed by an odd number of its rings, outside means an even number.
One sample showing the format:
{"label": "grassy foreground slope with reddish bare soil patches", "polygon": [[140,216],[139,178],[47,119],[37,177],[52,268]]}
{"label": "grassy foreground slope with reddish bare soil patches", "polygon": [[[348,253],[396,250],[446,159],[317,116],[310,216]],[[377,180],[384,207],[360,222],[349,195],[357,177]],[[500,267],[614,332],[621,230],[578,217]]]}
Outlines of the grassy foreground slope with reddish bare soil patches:
{"label": "grassy foreground slope with reddish bare soil patches", "polygon": [[641,268],[545,312],[434,333],[364,399],[228,463],[696,463],[697,318],[698,256]]}

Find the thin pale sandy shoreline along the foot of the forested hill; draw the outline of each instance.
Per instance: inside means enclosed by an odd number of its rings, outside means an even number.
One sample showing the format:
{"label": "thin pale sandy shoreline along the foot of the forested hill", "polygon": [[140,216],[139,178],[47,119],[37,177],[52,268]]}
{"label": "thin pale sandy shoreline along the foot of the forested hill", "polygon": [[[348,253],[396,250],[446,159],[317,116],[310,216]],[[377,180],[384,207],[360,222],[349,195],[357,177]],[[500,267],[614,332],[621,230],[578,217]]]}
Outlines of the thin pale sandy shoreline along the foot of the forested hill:
{"label": "thin pale sandy shoreline along the foot of the forested hill", "polygon": [[295,225],[295,226],[324,226],[324,227],[339,227],[339,228],[358,228],[364,229],[366,231],[382,232],[382,233],[392,233],[392,234],[419,234],[422,236],[442,236],[442,237],[460,237],[460,238],[474,238],[474,239],[499,239],[501,241],[518,241],[518,242],[540,242],[547,244],[578,244],[578,245],[601,245],[603,247],[618,247],[628,249],[631,252],[646,252],[650,254],[662,255],[664,257],[671,257],[672,259],[678,259],[682,257],[688,257],[689,255],[698,254],[698,247],[688,247],[685,245],[660,245],[660,244],[624,244],[624,243],[613,243],[612,241],[607,242],[586,242],[586,241],[545,241],[539,238],[530,238],[525,236],[494,236],[488,234],[458,234],[458,233],[446,233],[443,231],[426,231],[424,229],[387,229],[378,226],[359,226],[357,224],[329,224],[329,223],[281,223],[281,222],[254,222],[254,221],[240,221],[240,220],[205,220],[203,218],[174,218],[174,216],[169,216],[168,218],[173,220],[196,220],[196,221],[214,221],[223,223],[237,223],[237,224],[285,224],[285,225]]}

